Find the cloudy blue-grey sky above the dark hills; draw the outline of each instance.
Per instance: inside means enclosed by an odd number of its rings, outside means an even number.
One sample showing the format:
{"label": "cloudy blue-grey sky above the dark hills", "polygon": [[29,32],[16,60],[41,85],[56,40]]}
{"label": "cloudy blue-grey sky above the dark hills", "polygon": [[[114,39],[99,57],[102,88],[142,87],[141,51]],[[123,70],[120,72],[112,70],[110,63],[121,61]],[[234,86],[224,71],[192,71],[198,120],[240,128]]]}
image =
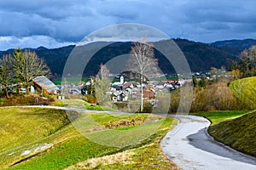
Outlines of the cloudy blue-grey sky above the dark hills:
{"label": "cloudy blue-grey sky above the dark hills", "polygon": [[255,0],[6,0],[0,1],[0,50],[61,47],[121,23],[197,42],[256,39],[255,8]]}

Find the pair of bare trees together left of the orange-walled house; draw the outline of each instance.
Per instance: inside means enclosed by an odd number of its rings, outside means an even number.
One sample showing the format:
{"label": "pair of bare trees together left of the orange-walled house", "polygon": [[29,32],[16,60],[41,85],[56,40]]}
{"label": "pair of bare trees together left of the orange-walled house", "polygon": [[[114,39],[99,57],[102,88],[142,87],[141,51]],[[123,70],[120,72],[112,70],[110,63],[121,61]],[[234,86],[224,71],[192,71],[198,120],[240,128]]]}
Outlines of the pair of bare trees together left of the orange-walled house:
{"label": "pair of bare trees together left of the orange-walled house", "polygon": [[13,54],[5,54],[0,59],[0,84],[1,94],[9,96],[9,90],[14,88],[26,88],[28,92],[31,78],[49,76],[50,70],[44,59],[38,57],[34,51],[20,48]]}

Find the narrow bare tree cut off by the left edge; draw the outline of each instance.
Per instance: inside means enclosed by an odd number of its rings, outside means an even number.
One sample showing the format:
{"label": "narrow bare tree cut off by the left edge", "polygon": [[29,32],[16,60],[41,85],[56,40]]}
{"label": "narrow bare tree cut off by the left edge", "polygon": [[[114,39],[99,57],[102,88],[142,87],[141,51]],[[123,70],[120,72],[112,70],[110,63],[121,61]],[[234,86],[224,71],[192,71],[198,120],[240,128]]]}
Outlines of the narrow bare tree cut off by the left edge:
{"label": "narrow bare tree cut off by the left edge", "polygon": [[3,55],[3,59],[0,59],[0,84],[3,89],[3,94],[8,98],[9,85],[13,79],[12,71],[13,58],[10,54]]}

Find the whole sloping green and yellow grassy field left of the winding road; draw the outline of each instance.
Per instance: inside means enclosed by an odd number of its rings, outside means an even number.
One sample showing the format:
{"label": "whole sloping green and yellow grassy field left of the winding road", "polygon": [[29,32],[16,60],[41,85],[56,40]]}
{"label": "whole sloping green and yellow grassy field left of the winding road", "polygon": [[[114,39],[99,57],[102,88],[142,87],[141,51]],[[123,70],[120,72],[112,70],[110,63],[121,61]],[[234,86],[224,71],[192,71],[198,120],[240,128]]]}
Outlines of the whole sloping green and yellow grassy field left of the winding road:
{"label": "whole sloping green and yellow grassy field left of the winding road", "polygon": [[[89,116],[102,128],[81,121]],[[77,124],[70,123],[68,117]],[[148,114],[113,115],[74,111],[66,113],[49,108],[0,108],[0,169],[77,169],[79,165],[110,169],[175,169],[177,167],[163,155],[159,141],[176,123],[172,118],[163,119]],[[81,133],[75,127],[83,124]],[[84,138],[99,134],[113,136],[117,132],[130,131],[142,136],[147,129],[154,127],[158,128],[148,138],[120,147],[102,145]],[[126,137],[123,140],[130,139]],[[117,159],[126,152],[127,159],[131,161]],[[107,163],[104,161],[102,164],[102,159],[108,159]]]}

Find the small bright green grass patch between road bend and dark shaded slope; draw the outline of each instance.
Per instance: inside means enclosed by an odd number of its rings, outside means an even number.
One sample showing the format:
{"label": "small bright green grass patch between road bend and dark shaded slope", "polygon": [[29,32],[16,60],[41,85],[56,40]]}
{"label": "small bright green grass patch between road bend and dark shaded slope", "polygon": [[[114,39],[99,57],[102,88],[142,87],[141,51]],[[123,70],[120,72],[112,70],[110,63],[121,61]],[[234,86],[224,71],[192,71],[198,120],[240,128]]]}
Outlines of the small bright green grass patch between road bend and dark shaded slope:
{"label": "small bright green grass patch between road bend and dark shaded slope", "polygon": [[204,116],[212,122],[212,125],[222,122],[226,119],[234,118],[246,114],[247,111],[208,111],[208,112],[198,112],[190,113],[194,116]]}

